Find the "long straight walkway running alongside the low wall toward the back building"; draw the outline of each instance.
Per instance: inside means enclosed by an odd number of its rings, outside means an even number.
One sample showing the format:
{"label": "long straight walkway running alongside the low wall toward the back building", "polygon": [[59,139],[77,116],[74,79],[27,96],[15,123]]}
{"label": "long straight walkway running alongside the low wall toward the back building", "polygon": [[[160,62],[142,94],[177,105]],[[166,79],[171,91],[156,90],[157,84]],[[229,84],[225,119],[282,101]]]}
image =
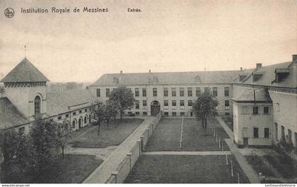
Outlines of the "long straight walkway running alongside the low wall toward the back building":
{"label": "long straight walkway running alongside the low wall toward the back building", "polygon": [[148,128],[149,123],[153,122],[155,117],[147,117],[136,130],[119,145],[100,166],[88,176],[83,183],[105,183],[110,178],[110,174],[116,171],[120,163],[127,157],[127,150],[131,150],[136,140],[140,140],[141,135]]}

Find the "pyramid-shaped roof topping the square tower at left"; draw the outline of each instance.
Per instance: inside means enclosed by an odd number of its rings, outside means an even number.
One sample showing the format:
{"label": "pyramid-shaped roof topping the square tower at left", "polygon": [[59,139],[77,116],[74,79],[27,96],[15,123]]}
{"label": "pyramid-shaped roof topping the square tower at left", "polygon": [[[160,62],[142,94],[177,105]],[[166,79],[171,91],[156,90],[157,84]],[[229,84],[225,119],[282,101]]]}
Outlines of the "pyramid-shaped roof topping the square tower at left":
{"label": "pyramid-shaped roof topping the square tower at left", "polygon": [[2,80],[2,83],[48,82],[48,80],[28,59],[23,59]]}

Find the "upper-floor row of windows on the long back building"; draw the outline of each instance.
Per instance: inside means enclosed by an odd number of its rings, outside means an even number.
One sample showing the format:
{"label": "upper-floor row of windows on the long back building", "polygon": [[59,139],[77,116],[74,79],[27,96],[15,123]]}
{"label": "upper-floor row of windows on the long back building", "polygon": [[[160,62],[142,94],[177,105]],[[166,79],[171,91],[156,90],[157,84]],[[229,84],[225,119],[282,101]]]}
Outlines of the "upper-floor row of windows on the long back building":
{"label": "upper-floor row of windows on the long back building", "polygon": [[[179,88],[180,90],[180,97],[184,97],[185,96],[185,88]],[[139,88],[135,88],[135,97],[139,97]],[[101,97],[101,92],[100,92],[100,88],[97,88],[96,90],[96,94],[97,97]],[[209,87],[205,87],[204,88],[204,92],[209,92]],[[229,96],[229,88],[225,87],[224,88],[224,94],[226,97]],[[163,93],[164,97],[168,97],[168,88],[164,88],[164,93]],[[201,88],[196,88],[196,97],[200,97],[200,95],[202,95],[202,90]],[[214,96],[218,96],[218,88],[217,87],[213,87],[212,88],[212,95]],[[105,90],[105,96],[109,97],[110,96],[110,88],[106,88]],[[158,96],[158,89],[157,88],[153,88],[153,97],[157,97]],[[171,96],[172,97],[176,97],[177,96],[177,89],[176,88],[171,88]],[[187,96],[188,97],[192,97],[192,88],[187,88]],[[142,97],[146,97],[146,88],[142,88]]]}

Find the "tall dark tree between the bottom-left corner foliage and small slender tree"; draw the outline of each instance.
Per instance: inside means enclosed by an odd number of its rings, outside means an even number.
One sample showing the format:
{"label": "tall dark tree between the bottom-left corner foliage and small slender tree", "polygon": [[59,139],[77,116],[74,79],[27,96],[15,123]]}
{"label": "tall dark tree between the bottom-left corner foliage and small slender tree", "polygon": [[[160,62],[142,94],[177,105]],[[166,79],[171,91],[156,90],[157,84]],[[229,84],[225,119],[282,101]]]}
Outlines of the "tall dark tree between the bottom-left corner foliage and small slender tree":
{"label": "tall dark tree between the bottom-left corner foliage and small slender tree", "polygon": [[45,176],[45,171],[51,167],[57,155],[57,123],[36,117],[30,130],[30,138],[38,171],[37,179],[40,179],[40,176]]}

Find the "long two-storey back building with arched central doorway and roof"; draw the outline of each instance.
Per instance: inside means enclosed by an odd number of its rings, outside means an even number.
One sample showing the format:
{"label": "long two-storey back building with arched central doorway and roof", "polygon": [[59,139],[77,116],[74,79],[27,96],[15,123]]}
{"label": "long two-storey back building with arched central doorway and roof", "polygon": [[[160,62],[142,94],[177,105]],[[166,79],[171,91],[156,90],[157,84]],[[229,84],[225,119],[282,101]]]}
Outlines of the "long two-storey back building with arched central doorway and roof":
{"label": "long two-storey back building with arched central doorway and roof", "polygon": [[178,73],[105,74],[90,85],[91,92],[103,102],[119,85],[132,90],[136,102],[126,114],[154,116],[193,116],[192,105],[203,92],[212,92],[219,101],[219,115],[232,114],[231,81],[238,71],[204,71]]}

